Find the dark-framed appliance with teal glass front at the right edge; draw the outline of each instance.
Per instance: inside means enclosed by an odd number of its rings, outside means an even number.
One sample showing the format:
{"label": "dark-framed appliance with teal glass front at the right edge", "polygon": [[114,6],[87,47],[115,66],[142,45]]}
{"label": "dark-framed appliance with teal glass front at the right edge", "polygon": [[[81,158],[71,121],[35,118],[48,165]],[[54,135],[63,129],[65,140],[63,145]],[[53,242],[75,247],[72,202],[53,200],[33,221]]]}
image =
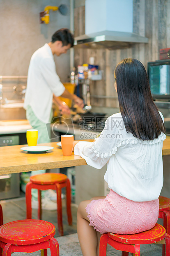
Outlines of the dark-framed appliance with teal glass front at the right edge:
{"label": "dark-framed appliance with teal glass front at the right edge", "polygon": [[148,62],[147,74],[154,100],[170,100],[170,60]]}

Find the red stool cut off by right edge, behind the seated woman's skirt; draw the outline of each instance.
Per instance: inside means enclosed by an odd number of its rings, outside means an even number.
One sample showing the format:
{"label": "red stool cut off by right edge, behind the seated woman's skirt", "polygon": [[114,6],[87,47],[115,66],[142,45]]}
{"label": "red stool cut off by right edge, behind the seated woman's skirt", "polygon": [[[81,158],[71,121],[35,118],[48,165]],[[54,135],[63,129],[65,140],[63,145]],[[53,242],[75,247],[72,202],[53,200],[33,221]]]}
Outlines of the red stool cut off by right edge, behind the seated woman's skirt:
{"label": "red stool cut off by right edge, behind the seated woman's skirt", "polygon": [[159,197],[159,218],[163,219],[163,227],[170,235],[170,199]]}

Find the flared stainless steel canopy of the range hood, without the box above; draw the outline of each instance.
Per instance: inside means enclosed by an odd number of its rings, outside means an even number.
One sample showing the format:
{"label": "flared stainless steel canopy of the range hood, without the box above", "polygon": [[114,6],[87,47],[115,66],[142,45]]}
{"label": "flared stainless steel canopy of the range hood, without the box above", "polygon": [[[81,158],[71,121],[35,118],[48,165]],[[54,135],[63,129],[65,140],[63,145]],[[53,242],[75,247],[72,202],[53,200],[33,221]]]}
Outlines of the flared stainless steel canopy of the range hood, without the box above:
{"label": "flared stainless steel canopy of the range hood, without the box above", "polygon": [[148,38],[129,32],[101,31],[77,36],[74,45],[80,48],[120,49],[134,43],[148,43]]}

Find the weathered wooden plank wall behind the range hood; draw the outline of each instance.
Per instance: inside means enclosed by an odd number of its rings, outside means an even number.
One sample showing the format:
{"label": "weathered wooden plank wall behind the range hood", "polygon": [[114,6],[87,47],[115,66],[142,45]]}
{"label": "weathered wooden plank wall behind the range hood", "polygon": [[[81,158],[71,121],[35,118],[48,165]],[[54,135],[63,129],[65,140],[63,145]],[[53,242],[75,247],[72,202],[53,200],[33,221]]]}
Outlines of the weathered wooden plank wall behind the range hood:
{"label": "weathered wooden plank wall behind the range hood", "polygon": [[[84,29],[85,10],[75,9],[75,35],[80,36]],[[129,48],[117,50],[76,49],[75,65],[88,63],[89,57],[95,57],[95,64],[103,70],[102,81],[92,82],[91,95],[104,95],[113,99],[96,99],[91,97],[93,106],[118,107],[117,94],[114,89],[114,69],[124,58],[133,57],[147,69],[147,62],[159,59],[159,50],[170,47],[170,0],[133,0],[133,32],[146,36],[149,43],[136,43]],[[80,21],[78,24],[77,21]],[[84,33],[84,32],[82,32]],[[116,97],[116,98],[115,98]]]}

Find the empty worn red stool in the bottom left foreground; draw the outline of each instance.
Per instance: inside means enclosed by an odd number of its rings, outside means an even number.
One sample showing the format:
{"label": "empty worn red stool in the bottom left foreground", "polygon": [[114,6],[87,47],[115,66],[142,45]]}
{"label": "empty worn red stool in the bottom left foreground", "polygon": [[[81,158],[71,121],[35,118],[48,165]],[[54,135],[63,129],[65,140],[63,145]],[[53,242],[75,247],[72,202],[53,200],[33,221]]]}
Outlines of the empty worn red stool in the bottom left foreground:
{"label": "empty worn red stool in the bottom left foreground", "polygon": [[55,226],[45,220],[17,220],[0,227],[2,256],[13,252],[34,252],[41,250],[41,256],[59,256],[59,245],[54,238]]}

